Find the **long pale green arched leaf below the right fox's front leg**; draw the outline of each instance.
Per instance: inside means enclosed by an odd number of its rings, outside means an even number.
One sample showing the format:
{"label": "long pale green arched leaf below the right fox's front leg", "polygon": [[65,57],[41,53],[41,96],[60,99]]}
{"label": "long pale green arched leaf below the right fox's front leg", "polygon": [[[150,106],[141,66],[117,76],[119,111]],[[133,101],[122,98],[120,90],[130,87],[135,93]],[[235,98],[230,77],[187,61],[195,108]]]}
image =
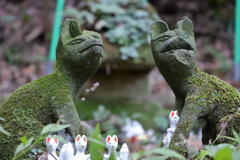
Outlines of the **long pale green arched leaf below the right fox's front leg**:
{"label": "long pale green arched leaf below the right fox's front leg", "polygon": [[175,151],[169,150],[169,149],[165,149],[165,148],[155,148],[155,149],[146,151],[145,153],[149,153],[149,154],[155,153],[155,154],[166,155],[168,157],[174,157],[174,158],[178,158],[178,159],[184,159],[184,160],[186,159],[181,154],[179,154]]}

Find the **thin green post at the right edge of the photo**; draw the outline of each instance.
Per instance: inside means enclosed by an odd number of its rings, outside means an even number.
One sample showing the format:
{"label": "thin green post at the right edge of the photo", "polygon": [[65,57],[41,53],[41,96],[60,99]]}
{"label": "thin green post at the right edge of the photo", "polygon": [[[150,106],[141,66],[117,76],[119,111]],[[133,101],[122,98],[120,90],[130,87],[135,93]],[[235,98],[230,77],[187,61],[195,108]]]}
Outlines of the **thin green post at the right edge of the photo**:
{"label": "thin green post at the right edge of the photo", "polygon": [[236,0],[234,44],[234,80],[240,81],[240,0]]}

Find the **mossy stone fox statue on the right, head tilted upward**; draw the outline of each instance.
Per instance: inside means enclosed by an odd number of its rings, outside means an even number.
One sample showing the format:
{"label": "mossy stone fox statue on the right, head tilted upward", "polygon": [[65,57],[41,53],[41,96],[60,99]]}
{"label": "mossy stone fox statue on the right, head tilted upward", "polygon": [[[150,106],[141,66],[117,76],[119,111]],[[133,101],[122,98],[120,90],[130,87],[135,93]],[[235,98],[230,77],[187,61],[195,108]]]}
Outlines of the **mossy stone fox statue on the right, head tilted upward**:
{"label": "mossy stone fox statue on the right, head tilted upward", "polygon": [[[175,108],[180,113],[176,131],[169,148],[186,155],[186,144],[180,138],[189,138],[198,119],[204,119],[204,144],[222,133],[233,137],[232,129],[240,133],[240,93],[219,78],[201,72],[197,67],[196,45],[191,20],[184,17],[175,30],[169,30],[163,21],[153,22],[150,28],[151,49],[155,63],[172,88]],[[219,138],[216,143],[230,143]]]}

